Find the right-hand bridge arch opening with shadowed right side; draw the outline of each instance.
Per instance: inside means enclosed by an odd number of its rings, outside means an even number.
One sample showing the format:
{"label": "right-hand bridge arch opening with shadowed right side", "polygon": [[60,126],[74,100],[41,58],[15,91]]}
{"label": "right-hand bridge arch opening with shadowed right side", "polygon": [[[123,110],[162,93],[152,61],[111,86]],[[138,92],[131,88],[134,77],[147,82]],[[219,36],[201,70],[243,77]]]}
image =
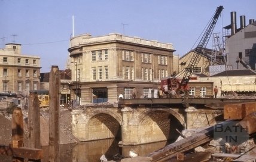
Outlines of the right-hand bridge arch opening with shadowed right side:
{"label": "right-hand bridge arch opening with shadowed right side", "polygon": [[151,141],[175,141],[179,131],[183,130],[185,121],[181,114],[172,108],[150,108],[138,117],[138,135],[140,143]]}

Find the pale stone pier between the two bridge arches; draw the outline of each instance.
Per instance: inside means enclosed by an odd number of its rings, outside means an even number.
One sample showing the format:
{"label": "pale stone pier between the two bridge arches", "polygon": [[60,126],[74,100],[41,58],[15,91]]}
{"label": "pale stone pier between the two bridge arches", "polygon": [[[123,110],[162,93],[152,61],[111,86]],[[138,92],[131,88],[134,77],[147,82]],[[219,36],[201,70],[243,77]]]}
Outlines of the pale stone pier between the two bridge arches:
{"label": "pale stone pier between the two bridge arches", "polygon": [[123,113],[123,126],[122,126],[122,141],[121,145],[137,145],[138,139],[138,124],[133,119],[133,109],[124,107],[121,112]]}

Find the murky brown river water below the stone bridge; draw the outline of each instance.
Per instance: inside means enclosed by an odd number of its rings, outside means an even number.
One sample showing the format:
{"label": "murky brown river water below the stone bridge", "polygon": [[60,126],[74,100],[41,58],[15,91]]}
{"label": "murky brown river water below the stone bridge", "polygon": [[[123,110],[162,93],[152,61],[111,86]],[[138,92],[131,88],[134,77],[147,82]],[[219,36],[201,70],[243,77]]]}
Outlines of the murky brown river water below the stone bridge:
{"label": "murky brown river water below the stone bridge", "polygon": [[[120,161],[121,157],[129,157],[130,149],[139,155],[147,155],[170,142],[156,142],[152,144],[121,146],[117,139],[103,139],[98,141],[81,142],[78,144],[60,145],[60,161],[63,162],[99,162],[101,155],[105,154],[108,160]],[[43,147],[44,159],[48,162],[48,147]]]}

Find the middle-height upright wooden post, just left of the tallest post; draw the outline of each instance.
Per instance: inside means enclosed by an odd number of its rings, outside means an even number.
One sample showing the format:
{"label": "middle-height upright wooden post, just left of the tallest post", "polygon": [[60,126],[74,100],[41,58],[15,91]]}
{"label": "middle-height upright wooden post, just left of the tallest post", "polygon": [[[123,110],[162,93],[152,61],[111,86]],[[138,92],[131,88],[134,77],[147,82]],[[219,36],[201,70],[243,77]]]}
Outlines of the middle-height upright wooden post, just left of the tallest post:
{"label": "middle-height upright wooden post, just left of the tallest post", "polygon": [[28,147],[41,148],[40,140],[40,108],[38,95],[29,94],[28,104]]}

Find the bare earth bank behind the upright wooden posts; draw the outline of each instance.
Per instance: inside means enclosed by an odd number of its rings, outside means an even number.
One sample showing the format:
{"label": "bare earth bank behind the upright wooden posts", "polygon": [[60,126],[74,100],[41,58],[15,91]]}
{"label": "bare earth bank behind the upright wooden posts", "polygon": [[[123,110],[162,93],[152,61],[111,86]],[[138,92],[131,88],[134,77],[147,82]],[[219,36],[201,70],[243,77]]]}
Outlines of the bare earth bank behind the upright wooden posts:
{"label": "bare earth bank behind the upright wooden posts", "polygon": [[[49,124],[48,124],[48,108],[41,108],[40,129],[41,129],[41,145],[48,145]],[[26,147],[28,141],[28,110],[22,110],[24,119],[24,145]],[[72,144],[78,142],[72,135],[72,115],[71,111],[66,108],[60,108],[60,144]],[[11,114],[8,114],[6,107],[1,107],[0,103],[0,145],[9,145],[11,142]]]}

